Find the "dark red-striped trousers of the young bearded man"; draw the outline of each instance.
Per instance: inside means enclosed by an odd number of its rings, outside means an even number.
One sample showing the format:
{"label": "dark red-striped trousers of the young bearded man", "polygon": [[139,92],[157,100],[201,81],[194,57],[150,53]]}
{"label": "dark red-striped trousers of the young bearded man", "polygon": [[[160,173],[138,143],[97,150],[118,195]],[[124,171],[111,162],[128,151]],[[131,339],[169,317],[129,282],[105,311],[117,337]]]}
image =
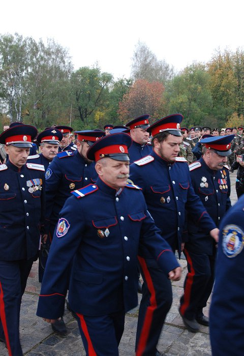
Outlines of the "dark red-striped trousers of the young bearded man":
{"label": "dark red-striped trousers of the young bearded man", "polygon": [[144,283],[137,323],[136,355],[153,356],[172,304],[172,287],[155,259],[138,259]]}

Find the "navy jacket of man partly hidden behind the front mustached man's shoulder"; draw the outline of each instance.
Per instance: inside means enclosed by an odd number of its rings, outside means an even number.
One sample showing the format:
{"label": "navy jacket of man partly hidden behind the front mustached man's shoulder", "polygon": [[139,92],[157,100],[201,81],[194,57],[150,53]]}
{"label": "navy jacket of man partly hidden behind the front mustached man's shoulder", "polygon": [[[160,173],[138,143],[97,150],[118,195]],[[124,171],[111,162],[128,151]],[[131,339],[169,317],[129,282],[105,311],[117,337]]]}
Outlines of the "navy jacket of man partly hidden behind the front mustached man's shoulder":
{"label": "navy jacket of man partly hidden behind the front mustached man's shoulder", "polygon": [[[88,163],[75,152],[57,154],[46,170],[46,220],[56,224],[66,199],[75,189],[96,182],[95,163]],[[46,232],[48,223],[46,224]]]}

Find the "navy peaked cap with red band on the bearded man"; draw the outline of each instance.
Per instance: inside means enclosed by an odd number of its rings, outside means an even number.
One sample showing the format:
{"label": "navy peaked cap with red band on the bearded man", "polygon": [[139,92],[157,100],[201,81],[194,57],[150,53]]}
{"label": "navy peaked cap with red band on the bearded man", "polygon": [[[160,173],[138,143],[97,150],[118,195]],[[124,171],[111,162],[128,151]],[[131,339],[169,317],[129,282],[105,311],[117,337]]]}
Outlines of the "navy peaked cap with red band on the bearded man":
{"label": "navy peaked cap with red band on the bearded man", "polygon": [[180,132],[180,123],[182,120],[183,115],[172,114],[156,121],[156,123],[148,127],[146,131],[150,132],[153,136],[165,131],[174,136],[182,136]]}

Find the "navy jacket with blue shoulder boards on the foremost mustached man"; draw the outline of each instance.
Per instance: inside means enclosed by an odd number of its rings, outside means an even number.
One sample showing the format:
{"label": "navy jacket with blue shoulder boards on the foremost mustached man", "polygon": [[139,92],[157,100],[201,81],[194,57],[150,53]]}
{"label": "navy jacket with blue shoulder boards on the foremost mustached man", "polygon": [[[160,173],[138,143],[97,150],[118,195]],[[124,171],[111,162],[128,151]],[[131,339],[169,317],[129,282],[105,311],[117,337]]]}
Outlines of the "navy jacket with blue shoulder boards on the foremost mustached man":
{"label": "navy jacket with blue shoulder boards on the foremost mustached man", "polygon": [[162,273],[178,266],[147,212],[140,189],[128,185],[116,194],[98,179],[97,185],[72,195],[60,212],[53,236],[37,315],[54,319],[63,314],[66,272],[72,260],[72,310],[105,315],[136,307],[138,248],[148,249]]}

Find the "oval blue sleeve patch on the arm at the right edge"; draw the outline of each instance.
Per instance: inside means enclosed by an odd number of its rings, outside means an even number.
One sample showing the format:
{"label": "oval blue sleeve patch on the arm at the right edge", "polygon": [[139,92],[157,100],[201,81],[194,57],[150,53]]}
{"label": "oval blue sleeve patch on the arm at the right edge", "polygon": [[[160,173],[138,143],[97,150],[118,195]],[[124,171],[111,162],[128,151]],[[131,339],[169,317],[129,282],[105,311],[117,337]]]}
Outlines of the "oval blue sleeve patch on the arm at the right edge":
{"label": "oval blue sleeve patch on the arm at the right edge", "polygon": [[224,254],[233,258],[243,249],[244,232],[237,225],[226,225],[223,229],[222,248]]}

